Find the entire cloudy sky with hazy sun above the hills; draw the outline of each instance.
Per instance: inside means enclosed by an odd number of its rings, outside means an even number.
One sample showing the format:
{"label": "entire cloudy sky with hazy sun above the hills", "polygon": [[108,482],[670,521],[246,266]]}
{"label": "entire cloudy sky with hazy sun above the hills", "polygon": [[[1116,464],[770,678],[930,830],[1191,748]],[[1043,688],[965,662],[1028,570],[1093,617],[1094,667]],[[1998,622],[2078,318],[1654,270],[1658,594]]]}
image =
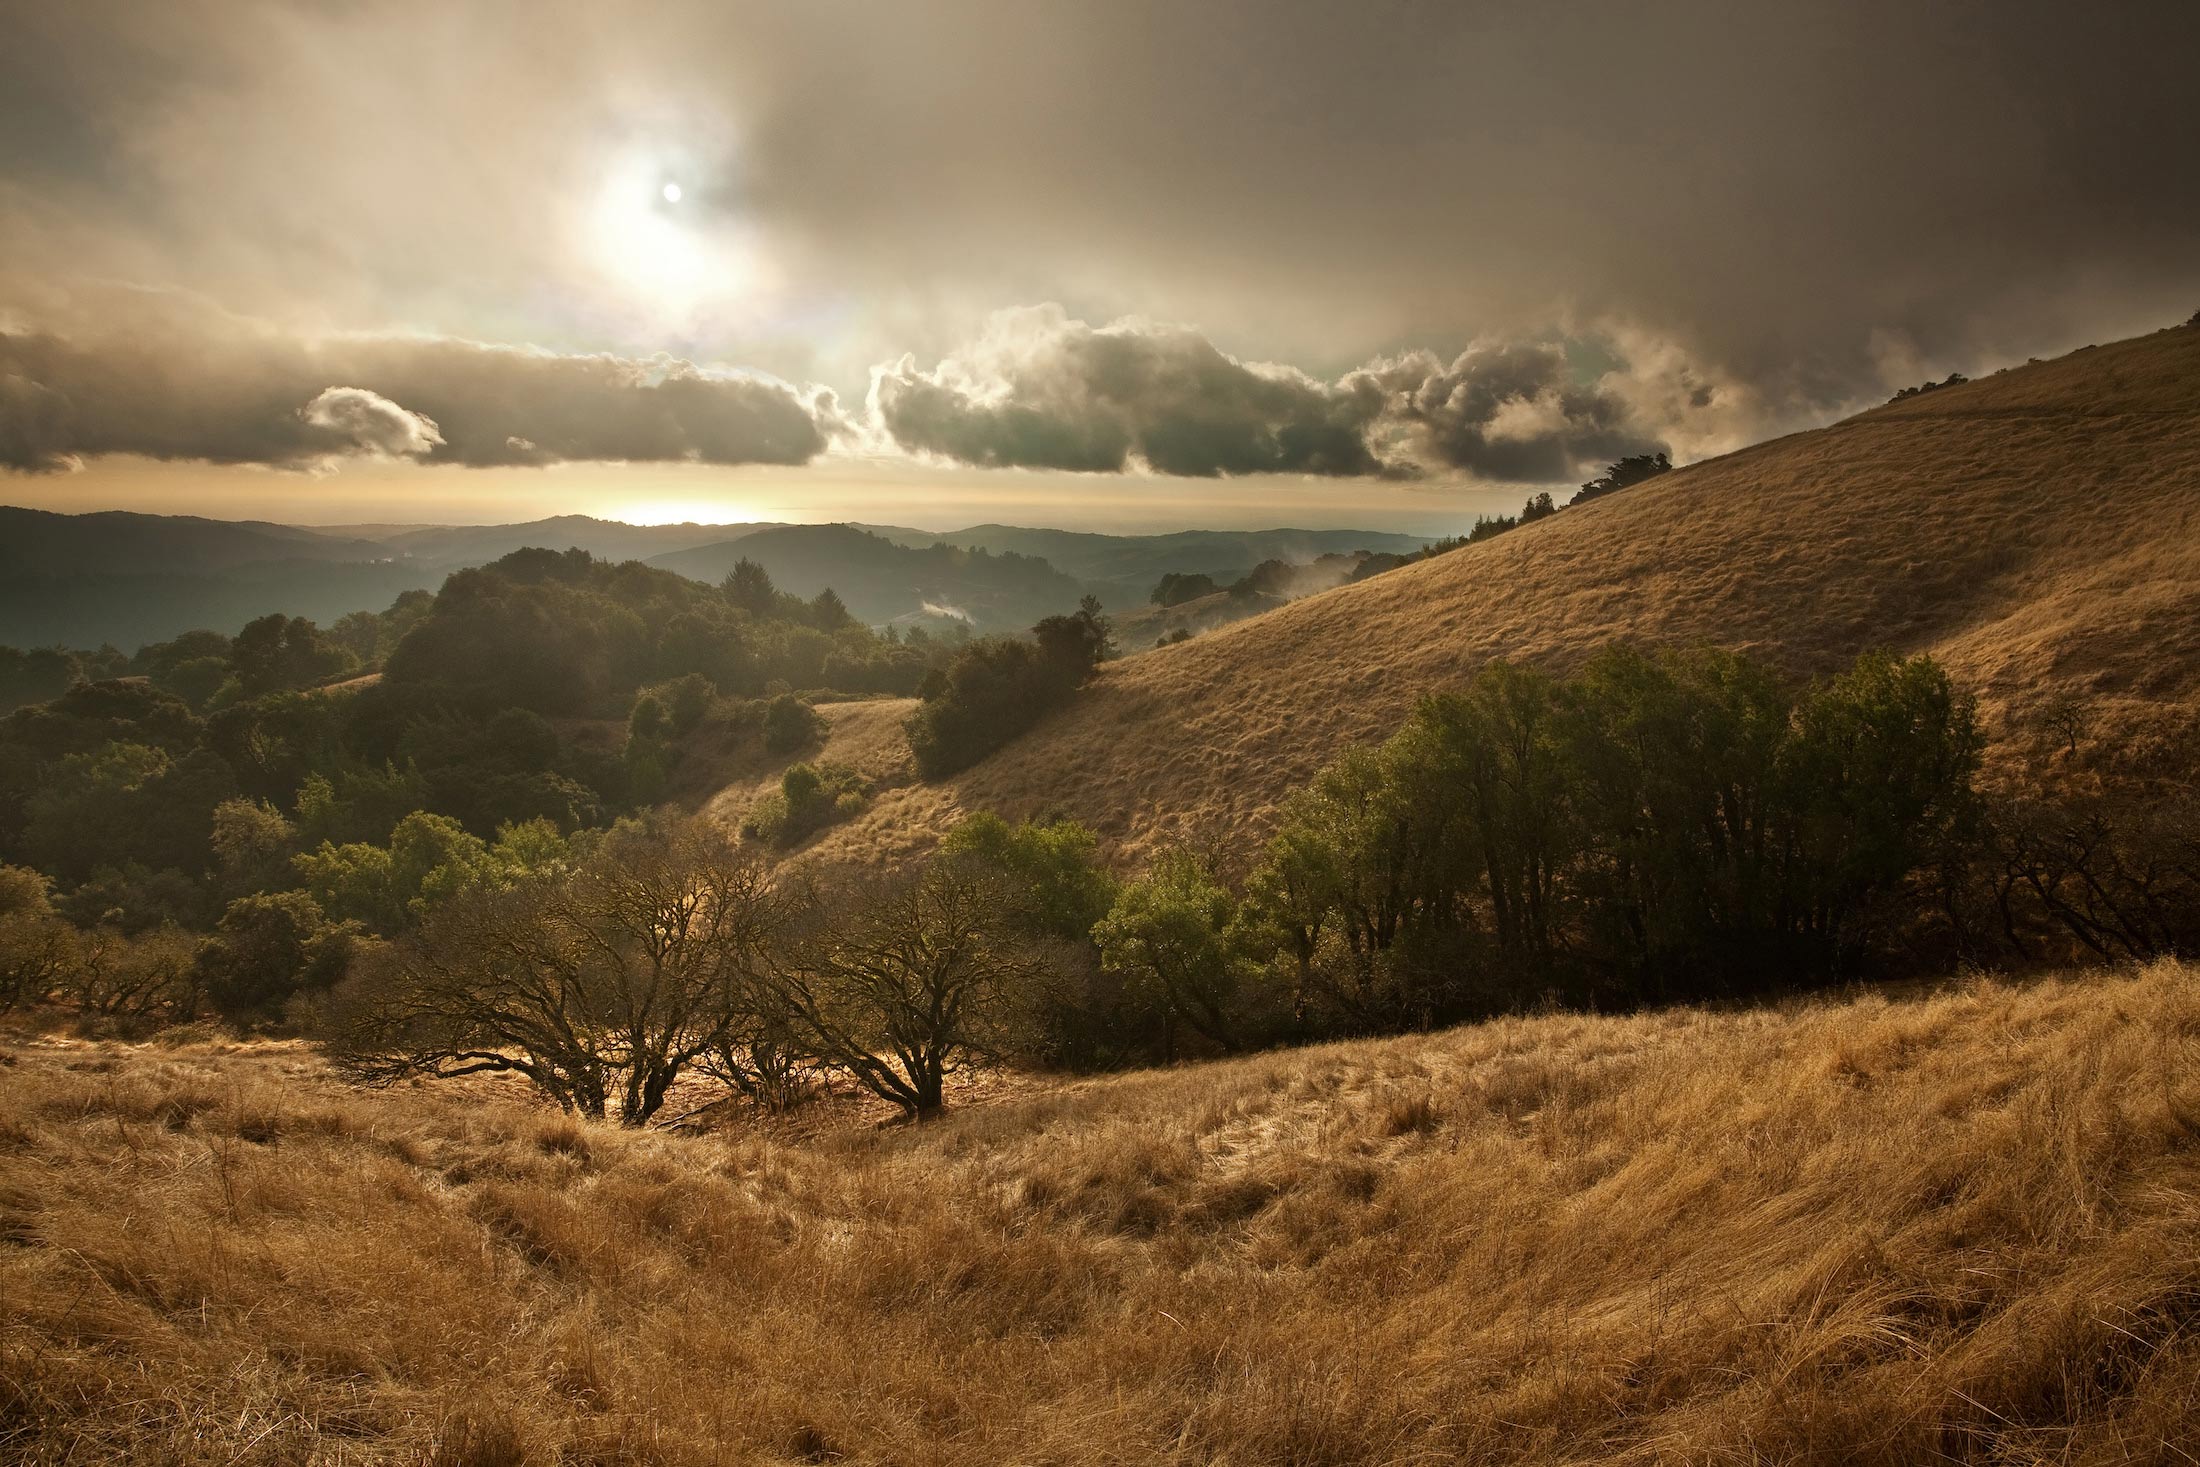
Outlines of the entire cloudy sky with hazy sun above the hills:
{"label": "entire cloudy sky with hazy sun above the hills", "polygon": [[0,501],[1456,532],[2200,308],[2200,7],[0,0]]}

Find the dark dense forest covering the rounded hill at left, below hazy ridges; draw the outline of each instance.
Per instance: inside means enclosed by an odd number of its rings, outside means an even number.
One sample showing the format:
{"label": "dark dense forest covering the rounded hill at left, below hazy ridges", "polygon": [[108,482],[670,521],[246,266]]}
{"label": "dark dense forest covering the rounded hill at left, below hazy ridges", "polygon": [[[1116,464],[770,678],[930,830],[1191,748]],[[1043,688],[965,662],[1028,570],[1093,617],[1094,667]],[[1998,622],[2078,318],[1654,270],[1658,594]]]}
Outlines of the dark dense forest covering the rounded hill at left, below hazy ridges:
{"label": "dark dense forest covering the rounded hill at left, below hazy ridges", "polygon": [[748,561],[704,585],[579,550],[517,550],[332,627],[0,649],[0,862],[84,922],[211,928],[260,878],[288,884],[286,851],[387,860],[416,816],[473,842],[601,827],[658,796],[706,717],[799,746],[796,691],[913,693],[953,651]]}

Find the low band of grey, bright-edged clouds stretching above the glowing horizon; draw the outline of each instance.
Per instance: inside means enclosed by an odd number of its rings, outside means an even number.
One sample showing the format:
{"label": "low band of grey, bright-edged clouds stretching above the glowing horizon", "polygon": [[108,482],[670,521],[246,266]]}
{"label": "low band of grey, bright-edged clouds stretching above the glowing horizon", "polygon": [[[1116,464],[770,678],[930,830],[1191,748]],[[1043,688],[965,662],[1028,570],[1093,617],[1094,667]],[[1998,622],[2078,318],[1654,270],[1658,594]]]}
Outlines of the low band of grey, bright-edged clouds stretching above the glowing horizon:
{"label": "low band of grey, bright-edged clouds stretching above the glowing horizon", "polygon": [[1406,352],[1322,380],[1239,361],[1188,326],[992,317],[920,369],[873,367],[860,416],[825,389],[671,356],[579,356],[433,337],[295,339],[161,293],[101,301],[125,332],[0,330],[0,468],[86,457],[319,468],[418,464],[807,464],[836,444],[975,468],[1566,484],[1654,449],[1747,442],[1753,398],[1672,343]]}

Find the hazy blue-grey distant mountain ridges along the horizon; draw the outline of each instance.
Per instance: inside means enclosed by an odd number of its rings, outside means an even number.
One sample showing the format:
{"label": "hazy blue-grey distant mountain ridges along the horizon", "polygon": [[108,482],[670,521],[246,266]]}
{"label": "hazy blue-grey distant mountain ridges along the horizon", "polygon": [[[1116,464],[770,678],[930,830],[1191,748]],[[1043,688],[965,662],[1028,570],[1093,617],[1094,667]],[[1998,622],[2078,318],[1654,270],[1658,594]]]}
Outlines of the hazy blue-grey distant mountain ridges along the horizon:
{"label": "hazy blue-grey distant mountain ridges along the horizon", "polygon": [[1234,578],[1265,559],[1404,550],[1419,539],[1360,530],[629,526],[590,515],[508,526],[312,528],[0,506],[0,644],[132,649],[200,627],[229,633],[268,611],[326,625],[528,545],[581,548],[706,581],[748,556],[801,596],[832,587],[867,622],[935,618],[1008,631],[1074,609],[1085,594],[1133,611],[1170,570]]}

